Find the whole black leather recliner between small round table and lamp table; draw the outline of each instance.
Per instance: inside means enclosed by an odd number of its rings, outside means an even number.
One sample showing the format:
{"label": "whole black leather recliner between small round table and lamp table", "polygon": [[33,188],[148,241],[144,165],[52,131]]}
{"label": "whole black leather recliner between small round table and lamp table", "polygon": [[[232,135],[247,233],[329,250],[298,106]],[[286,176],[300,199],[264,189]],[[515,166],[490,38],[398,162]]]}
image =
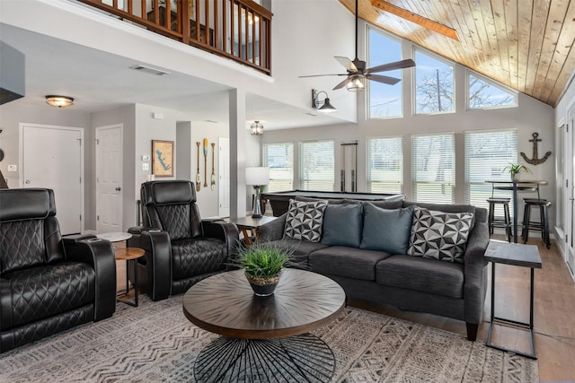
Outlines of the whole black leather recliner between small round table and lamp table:
{"label": "whole black leather recliner between small round table and lamp table", "polygon": [[[144,226],[128,230],[128,246],[146,250],[137,260],[137,284],[152,300],[186,292],[192,284],[226,271],[238,244],[237,227],[202,220],[192,182],[150,181],[140,192]],[[128,272],[133,281],[131,268]]]}

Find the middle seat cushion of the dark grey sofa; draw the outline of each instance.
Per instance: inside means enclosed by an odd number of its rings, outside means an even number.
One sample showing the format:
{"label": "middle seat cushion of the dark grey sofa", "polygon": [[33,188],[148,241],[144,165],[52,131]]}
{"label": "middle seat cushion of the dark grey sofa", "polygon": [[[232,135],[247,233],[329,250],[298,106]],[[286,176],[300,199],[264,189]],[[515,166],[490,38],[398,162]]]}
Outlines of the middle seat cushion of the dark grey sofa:
{"label": "middle seat cushion of the dark grey sofa", "polygon": [[375,281],[377,262],[390,256],[384,251],[332,246],[311,253],[308,263],[315,273]]}

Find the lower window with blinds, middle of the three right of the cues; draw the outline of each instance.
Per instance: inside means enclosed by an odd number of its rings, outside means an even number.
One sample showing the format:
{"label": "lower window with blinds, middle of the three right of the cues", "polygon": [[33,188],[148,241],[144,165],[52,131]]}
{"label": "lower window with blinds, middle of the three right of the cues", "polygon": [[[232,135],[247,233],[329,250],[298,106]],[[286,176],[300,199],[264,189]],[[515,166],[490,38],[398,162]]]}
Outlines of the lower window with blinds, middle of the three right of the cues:
{"label": "lower window with blinds, middle of the three right of the cues", "polygon": [[453,204],[456,187],[455,135],[411,137],[412,199]]}

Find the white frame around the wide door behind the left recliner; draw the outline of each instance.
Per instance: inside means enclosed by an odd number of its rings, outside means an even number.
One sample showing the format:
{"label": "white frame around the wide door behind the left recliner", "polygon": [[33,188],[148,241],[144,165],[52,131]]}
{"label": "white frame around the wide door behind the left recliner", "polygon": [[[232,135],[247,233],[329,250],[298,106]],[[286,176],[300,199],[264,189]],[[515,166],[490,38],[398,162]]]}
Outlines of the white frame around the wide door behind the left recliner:
{"label": "white frame around the wide door behind the left recliner", "polygon": [[[59,126],[59,125],[48,125],[48,124],[33,124],[28,122],[21,122],[18,125],[18,162],[20,163],[18,169],[18,178],[19,182],[18,185],[20,187],[24,187],[24,128],[26,126],[35,127],[40,129],[57,129],[57,130],[72,130],[80,133],[80,188],[81,188],[81,196],[80,196],[80,210],[82,212],[82,220],[80,222],[80,231],[84,232],[85,230],[85,222],[86,222],[86,210],[85,210],[85,170],[84,170],[84,128],[78,126]],[[57,207],[57,206],[56,206]]]}

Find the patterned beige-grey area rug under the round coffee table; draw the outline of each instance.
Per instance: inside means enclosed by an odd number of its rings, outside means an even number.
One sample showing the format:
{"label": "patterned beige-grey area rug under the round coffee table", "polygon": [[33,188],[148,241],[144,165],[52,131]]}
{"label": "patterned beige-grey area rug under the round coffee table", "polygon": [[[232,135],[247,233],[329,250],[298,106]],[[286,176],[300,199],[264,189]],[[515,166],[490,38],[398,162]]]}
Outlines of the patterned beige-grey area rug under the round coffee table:
{"label": "patterned beige-grey area rug under the round coffee table", "polygon": [[[218,335],[184,317],[182,297],[119,303],[110,319],[4,353],[0,382],[194,382],[199,352]],[[536,361],[362,309],[314,335],[335,355],[334,382],[538,380]]]}

